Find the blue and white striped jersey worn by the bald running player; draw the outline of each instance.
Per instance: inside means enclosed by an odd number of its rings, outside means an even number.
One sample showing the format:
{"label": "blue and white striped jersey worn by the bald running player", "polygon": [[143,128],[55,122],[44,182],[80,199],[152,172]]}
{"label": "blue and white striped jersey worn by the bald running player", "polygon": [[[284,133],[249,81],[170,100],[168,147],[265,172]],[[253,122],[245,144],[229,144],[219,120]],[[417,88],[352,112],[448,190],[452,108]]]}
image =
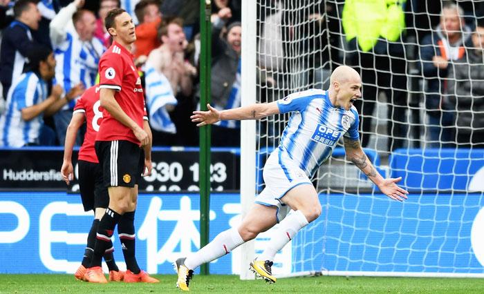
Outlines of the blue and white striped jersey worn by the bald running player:
{"label": "blue and white striped jersey worn by the bald running player", "polygon": [[277,106],[281,113],[294,112],[282,133],[277,151],[282,168],[285,161],[297,162],[311,178],[331,156],[342,135],[360,139],[360,121],[355,106],[350,110],[333,106],[327,91],[295,92],[277,101]]}

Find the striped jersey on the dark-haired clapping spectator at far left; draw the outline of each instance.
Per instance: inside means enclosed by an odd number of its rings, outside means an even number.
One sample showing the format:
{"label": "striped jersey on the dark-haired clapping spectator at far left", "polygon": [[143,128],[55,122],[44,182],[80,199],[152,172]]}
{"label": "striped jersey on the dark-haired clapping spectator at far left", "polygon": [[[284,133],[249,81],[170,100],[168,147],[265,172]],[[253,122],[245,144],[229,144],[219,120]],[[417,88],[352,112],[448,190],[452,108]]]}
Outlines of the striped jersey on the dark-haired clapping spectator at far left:
{"label": "striped jersey on the dark-haired clapping spectator at far left", "polygon": [[0,117],[0,146],[22,147],[39,143],[44,125],[43,115],[24,121],[21,110],[39,104],[47,98],[47,84],[34,72],[22,74],[8,90],[5,115]]}

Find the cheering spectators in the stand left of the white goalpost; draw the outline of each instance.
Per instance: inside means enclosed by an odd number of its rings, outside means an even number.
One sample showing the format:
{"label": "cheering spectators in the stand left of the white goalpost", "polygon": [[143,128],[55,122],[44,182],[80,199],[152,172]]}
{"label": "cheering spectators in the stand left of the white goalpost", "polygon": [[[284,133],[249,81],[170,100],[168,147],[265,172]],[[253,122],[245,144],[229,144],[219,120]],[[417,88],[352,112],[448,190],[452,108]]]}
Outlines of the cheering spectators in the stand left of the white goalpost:
{"label": "cheering spectators in the stand left of the white goalpost", "polygon": [[[16,147],[64,145],[75,101],[84,89],[96,84],[97,64],[111,45],[104,17],[109,10],[118,7],[127,10],[136,22],[137,41],[132,54],[144,80],[153,144],[198,146],[198,133],[189,119],[192,111],[198,108],[199,96],[200,8],[197,1],[1,0],[0,81],[3,88],[0,118],[6,124],[3,128],[15,126],[18,132],[13,133],[24,138],[15,143]],[[217,105],[222,108],[240,105],[240,94],[231,95],[240,88],[240,10],[241,3],[237,0],[212,2],[211,18],[216,28],[213,52],[217,52],[217,56],[230,52],[230,60],[214,61],[220,64],[216,68],[225,66],[230,70],[212,71],[213,79],[224,79],[223,89],[216,95]],[[30,66],[32,60],[46,58],[39,56],[46,49],[53,52],[56,61],[54,77],[44,77],[38,68]],[[44,60],[41,65],[44,66]],[[40,91],[35,90],[37,84]],[[28,92],[31,88],[33,93]],[[233,101],[234,96],[236,101]],[[48,107],[55,102],[54,98],[65,103],[62,107],[57,104],[55,108]],[[231,99],[230,104],[224,99]],[[19,115],[36,104],[43,107],[37,108],[40,112],[34,112],[35,121]],[[232,130],[233,127],[227,128]],[[12,131],[9,132],[11,136]],[[6,132],[1,134],[0,146],[14,146],[4,135]],[[77,138],[76,144],[80,145],[82,135]],[[237,146],[239,142],[223,140],[223,144]]]}

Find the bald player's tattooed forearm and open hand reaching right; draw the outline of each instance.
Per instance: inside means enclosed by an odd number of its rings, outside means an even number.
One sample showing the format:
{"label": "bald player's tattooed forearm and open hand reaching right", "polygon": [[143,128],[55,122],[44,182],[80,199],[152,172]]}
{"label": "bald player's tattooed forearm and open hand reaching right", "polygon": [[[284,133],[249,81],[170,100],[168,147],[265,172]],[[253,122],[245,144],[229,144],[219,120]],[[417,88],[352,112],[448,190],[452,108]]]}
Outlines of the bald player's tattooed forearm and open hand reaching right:
{"label": "bald player's tattooed forearm and open hand reaching right", "polygon": [[375,185],[380,188],[380,191],[382,191],[384,195],[398,201],[407,199],[407,190],[404,190],[395,184],[400,182],[402,177],[396,179],[384,179],[375,169],[375,166],[371,164],[370,159],[364,154],[360,141],[344,137],[344,150],[346,152],[346,158],[353,162],[357,168],[360,168],[371,182],[375,183]]}

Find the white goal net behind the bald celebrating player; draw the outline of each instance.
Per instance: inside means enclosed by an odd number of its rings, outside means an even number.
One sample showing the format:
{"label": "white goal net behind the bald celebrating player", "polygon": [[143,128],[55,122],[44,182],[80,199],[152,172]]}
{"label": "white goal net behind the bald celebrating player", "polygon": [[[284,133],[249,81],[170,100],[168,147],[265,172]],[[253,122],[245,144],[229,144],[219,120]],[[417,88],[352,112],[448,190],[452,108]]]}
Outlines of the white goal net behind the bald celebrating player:
{"label": "white goal net behind the bald celebrating player", "polygon": [[[468,79],[440,76],[452,72],[457,63],[467,65],[471,75],[466,52],[472,50],[472,37],[450,51],[425,39],[442,36],[440,11],[449,1],[382,0],[378,13],[403,16],[404,22],[396,39],[387,32],[388,39],[380,35],[376,43],[366,40],[365,34],[371,33],[362,30],[357,39],[347,39],[355,33],[351,26],[359,24],[355,20],[362,19],[355,14],[368,15],[376,9],[358,6],[358,1],[256,2],[257,13],[251,16],[256,41],[244,43],[247,36],[243,36],[242,50],[257,52],[252,71],[257,72],[257,102],[308,88],[326,90],[336,66],[353,66],[363,77],[362,103],[355,106],[365,153],[384,177],[402,176],[400,185],[410,191],[403,203],[382,195],[346,161],[339,142],[313,179],[322,215],[278,253],[273,273],[484,277],[484,149],[477,145],[484,141],[478,138],[483,129],[478,124],[462,125],[458,119],[460,113],[472,120],[484,115],[480,112],[484,108],[478,107],[484,97],[468,94],[466,101],[471,102],[466,110],[459,104],[465,96],[459,90]],[[467,38],[476,30],[484,1],[460,2],[458,16],[463,22],[458,35]],[[248,19],[243,16],[243,21]],[[248,26],[243,23],[243,28]],[[425,72],[425,66],[434,63],[431,58],[422,60],[425,50],[458,61],[448,61],[449,70],[435,70],[438,73],[432,76]],[[243,99],[250,87],[243,83]],[[440,102],[432,104],[431,99]],[[256,164],[245,166],[241,175],[257,170],[257,192],[264,187],[263,164],[277,148],[288,119],[289,115],[268,117],[257,121],[253,130],[257,139],[251,152]],[[256,239],[255,255],[270,234]],[[241,271],[244,268],[241,264]]]}

